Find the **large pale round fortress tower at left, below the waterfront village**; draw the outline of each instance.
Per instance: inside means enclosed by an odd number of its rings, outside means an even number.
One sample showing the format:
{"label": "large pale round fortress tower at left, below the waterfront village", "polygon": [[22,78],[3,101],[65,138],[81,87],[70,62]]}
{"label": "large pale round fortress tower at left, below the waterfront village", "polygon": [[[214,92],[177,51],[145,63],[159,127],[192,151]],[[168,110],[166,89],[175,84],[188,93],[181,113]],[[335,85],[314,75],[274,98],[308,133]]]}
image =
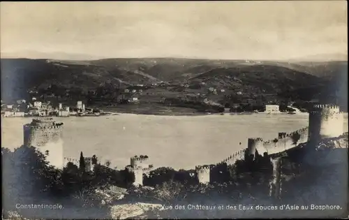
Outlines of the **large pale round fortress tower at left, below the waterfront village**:
{"label": "large pale round fortress tower at left, below the waterfront village", "polygon": [[56,123],[52,118],[33,119],[30,124],[24,124],[24,146],[36,147],[46,156],[50,165],[56,168],[64,167],[63,123]]}

